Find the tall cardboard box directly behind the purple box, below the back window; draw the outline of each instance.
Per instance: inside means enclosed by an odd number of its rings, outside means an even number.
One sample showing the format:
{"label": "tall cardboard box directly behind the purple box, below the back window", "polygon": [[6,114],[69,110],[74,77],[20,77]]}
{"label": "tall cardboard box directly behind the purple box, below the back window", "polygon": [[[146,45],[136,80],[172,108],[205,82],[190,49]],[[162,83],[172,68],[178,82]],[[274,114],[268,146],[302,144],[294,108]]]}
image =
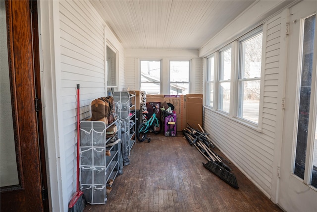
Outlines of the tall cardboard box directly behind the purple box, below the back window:
{"label": "tall cardboard box directly behind the purple box, below the back window", "polygon": [[164,95],[164,101],[174,106],[177,116],[177,132],[186,128],[186,95]]}

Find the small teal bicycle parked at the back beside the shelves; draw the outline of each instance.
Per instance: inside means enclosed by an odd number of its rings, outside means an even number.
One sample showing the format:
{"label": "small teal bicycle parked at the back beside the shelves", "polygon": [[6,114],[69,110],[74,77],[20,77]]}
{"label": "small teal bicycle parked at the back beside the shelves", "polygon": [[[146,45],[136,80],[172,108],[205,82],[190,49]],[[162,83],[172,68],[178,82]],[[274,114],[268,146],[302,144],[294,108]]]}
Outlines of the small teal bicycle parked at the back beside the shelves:
{"label": "small teal bicycle parked at the back beside the shelves", "polygon": [[162,123],[161,121],[156,117],[155,113],[151,116],[151,118],[146,122],[142,123],[138,127],[138,131],[136,133],[137,139],[140,142],[145,141],[145,139],[148,139],[148,142],[151,141],[150,138],[147,138],[146,135],[149,132],[153,132],[154,134],[158,135],[160,131],[162,130]]}

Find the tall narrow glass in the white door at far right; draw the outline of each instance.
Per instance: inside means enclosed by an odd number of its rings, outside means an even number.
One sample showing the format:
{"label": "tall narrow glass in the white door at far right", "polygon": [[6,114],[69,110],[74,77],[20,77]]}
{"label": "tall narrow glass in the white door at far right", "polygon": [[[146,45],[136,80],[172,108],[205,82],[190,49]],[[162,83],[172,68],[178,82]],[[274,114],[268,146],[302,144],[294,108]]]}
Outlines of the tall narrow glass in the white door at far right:
{"label": "tall narrow glass in the white door at far right", "polygon": [[[296,154],[294,163],[294,174],[304,179],[306,166],[306,157],[310,156],[311,152],[308,151],[307,146],[313,147],[312,166],[309,168],[311,174],[311,185],[317,188],[317,144],[316,136],[317,130],[315,127],[315,138],[309,141],[310,134],[310,116],[313,116],[314,108],[311,108],[311,93],[316,92],[313,89],[314,83],[312,82],[314,70],[314,44],[315,44],[315,24],[316,15],[305,18],[303,25],[303,40],[302,40],[302,67],[301,67],[301,83],[300,83],[300,96],[299,96],[299,111],[298,111],[298,125],[297,125],[297,141],[296,141]],[[315,85],[316,86],[316,85]],[[316,95],[316,93],[315,93]],[[314,99],[312,99],[314,100]],[[316,103],[315,103],[316,105]],[[316,110],[316,108],[315,108]],[[316,115],[315,115],[316,116]],[[315,118],[315,126],[317,119]],[[313,125],[314,125],[313,124]]]}

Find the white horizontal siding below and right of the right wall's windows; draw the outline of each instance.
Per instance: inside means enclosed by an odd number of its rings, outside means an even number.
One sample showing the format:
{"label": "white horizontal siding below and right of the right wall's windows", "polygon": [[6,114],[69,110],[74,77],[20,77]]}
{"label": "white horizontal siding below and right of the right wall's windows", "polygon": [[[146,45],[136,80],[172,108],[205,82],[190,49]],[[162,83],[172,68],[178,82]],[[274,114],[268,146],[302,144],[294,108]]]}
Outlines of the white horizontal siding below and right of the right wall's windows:
{"label": "white horizontal siding below and right of the right wall's windows", "polygon": [[[279,52],[281,15],[267,22],[264,55],[264,97],[262,105],[262,132],[233,119],[205,109],[204,128],[216,146],[270,197],[273,180],[274,145],[279,86]],[[261,111],[261,110],[260,110]],[[275,177],[275,176],[274,176]]]}

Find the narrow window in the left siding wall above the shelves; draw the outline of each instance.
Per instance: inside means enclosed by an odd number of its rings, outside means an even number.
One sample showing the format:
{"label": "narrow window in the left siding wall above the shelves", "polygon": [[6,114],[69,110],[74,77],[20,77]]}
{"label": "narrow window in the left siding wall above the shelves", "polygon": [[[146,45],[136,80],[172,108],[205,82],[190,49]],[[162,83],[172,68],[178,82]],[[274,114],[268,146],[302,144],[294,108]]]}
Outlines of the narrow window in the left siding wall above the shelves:
{"label": "narrow window in the left siding wall above the shelves", "polygon": [[116,80],[116,52],[108,45],[106,46],[106,73],[107,73],[107,95],[112,95],[117,86]]}

